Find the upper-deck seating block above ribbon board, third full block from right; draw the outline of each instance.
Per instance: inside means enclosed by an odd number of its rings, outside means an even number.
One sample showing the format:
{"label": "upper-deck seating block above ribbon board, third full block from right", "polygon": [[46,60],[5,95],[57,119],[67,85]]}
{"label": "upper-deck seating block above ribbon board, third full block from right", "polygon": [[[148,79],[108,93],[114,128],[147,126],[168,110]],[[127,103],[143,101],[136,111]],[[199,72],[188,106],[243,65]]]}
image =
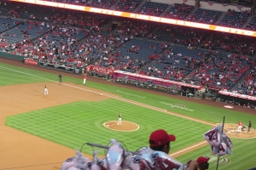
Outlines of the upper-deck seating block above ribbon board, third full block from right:
{"label": "upper-deck seating block above ribbon board, third full block from right", "polygon": [[166,11],[166,14],[164,15],[166,18],[170,19],[178,19],[178,20],[185,20],[186,17],[191,13],[191,11],[194,9],[194,6],[192,5],[186,5],[174,3],[172,4],[169,11]]}

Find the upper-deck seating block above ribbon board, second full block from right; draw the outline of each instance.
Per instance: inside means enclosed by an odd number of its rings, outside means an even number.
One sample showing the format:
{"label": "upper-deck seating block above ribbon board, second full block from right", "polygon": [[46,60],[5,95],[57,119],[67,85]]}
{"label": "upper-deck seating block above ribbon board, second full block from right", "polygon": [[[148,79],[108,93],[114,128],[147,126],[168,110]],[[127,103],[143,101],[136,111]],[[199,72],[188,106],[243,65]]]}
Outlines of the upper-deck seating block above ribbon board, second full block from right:
{"label": "upper-deck seating block above ribbon board, second full block from right", "polygon": [[207,23],[207,24],[214,24],[218,20],[221,14],[222,12],[220,11],[197,8],[195,10],[195,13],[189,16],[189,20],[195,20],[197,22]]}

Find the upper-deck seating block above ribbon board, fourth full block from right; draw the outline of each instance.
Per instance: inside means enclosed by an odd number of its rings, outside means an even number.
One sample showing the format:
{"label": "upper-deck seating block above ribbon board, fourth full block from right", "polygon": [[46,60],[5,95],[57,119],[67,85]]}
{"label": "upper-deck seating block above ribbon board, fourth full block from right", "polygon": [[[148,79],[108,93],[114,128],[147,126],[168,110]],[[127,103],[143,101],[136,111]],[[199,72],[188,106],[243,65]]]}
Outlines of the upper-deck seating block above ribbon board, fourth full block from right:
{"label": "upper-deck seating block above ribbon board, fourth full block from right", "polygon": [[160,14],[163,13],[167,7],[168,4],[165,3],[145,2],[143,3],[143,6],[137,10],[137,13],[160,16]]}

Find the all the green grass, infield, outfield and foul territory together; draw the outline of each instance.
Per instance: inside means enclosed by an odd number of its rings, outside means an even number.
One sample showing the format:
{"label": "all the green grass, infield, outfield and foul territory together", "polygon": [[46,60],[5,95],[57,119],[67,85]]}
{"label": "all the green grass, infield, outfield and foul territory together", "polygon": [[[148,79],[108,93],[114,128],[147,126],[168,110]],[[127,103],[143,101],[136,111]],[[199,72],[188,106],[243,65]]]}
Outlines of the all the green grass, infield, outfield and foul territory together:
{"label": "all the green grass, infield, outfield and foul territory together", "polygon": [[[3,67],[15,71],[7,70]],[[27,74],[36,77],[16,71],[26,72]],[[29,70],[2,63],[0,63],[0,72],[0,86],[19,83],[58,81],[58,77],[55,74]],[[81,81],[81,79],[73,77],[63,77],[63,82],[81,84]],[[237,123],[239,120],[241,122],[248,122],[248,120],[256,122],[256,116],[253,115],[173,99],[172,95],[168,98],[165,96],[148,94],[139,91],[139,88],[138,91],[134,91],[128,89],[128,87],[118,88],[90,81],[86,82],[86,86],[101,89],[113,94],[119,94],[125,99],[153,105],[184,116],[191,116],[212,123],[221,122],[223,116],[226,117],[226,122],[229,123]],[[174,108],[172,105],[185,105],[193,111]],[[136,132],[121,133],[104,128],[102,123],[109,120],[117,120],[119,111],[122,111],[124,114],[123,117],[125,118],[123,119],[139,124],[140,129]],[[108,99],[101,102],[80,101],[68,105],[59,105],[44,110],[23,113],[16,116],[9,116],[6,119],[6,124],[10,127],[18,128],[27,133],[32,133],[41,138],[49,139],[73,149],[80,148],[84,142],[108,144],[109,139],[116,138],[121,142],[125,142],[125,146],[128,150],[136,150],[137,147],[148,144],[148,135],[154,129],[165,128],[169,133],[174,133],[177,136],[177,141],[172,144],[172,152],[180,150],[189,144],[194,144],[195,142],[203,140],[202,134],[211,128],[201,123],[185,120],[177,116],[167,115],[166,113],[159,111],[152,111],[137,105],[127,104],[116,99]],[[28,124],[29,126],[27,126]],[[235,146],[233,155],[230,156],[231,162],[229,165],[220,166],[219,169],[246,169],[256,166],[255,163],[253,165],[253,162],[255,161],[252,161],[252,155],[255,153],[254,150],[256,147],[255,139],[232,139],[232,141]],[[90,153],[90,151],[90,148],[84,147],[84,152]],[[210,148],[207,146],[190,152],[185,156],[180,156],[177,159],[185,162],[189,159],[195,159],[198,156],[210,155],[210,153]],[[244,159],[241,162],[241,158],[245,157],[248,157],[249,159]],[[214,162],[211,163],[211,167],[214,167],[213,164]]]}

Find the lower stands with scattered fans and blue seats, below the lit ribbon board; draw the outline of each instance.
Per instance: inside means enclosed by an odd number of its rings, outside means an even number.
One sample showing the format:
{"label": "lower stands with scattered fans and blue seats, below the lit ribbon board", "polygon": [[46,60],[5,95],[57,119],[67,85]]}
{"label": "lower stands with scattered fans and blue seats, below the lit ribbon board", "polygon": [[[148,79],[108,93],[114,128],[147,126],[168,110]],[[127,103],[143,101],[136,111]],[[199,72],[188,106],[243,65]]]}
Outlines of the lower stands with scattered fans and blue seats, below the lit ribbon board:
{"label": "lower stands with scattered fans and blue seats, below the lit ribbon board", "polygon": [[[191,7],[177,5],[177,10],[185,8]],[[17,15],[26,14],[26,10],[26,7],[16,6],[10,14],[17,19]],[[85,15],[63,9],[51,11],[47,20],[44,15],[38,18],[33,17],[37,14],[30,14],[24,21],[8,22],[5,19],[0,23],[8,30],[0,34],[2,51],[13,51],[13,54],[50,64],[73,67],[102,65],[179,82],[189,76],[189,82],[194,84],[227,90],[233,88],[254,66],[254,60],[248,55],[254,55],[256,44],[250,37],[137,20],[124,20],[110,34],[102,34],[102,26],[109,20],[107,16]],[[44,11],[38,13],[44,14]],[[26,29],[20,29],[23,25]],[[18,30],[16,33],[9,34],[15,29]],[[37,35],[32,35],[31,30],[37,30]],[[10,42],[9,37],[18,34],[22,35],[21,41]],[[147,50],[140,43],[125,47],[135,38],[157,41],[147,47],[152,54],[140,58],[143,55],[140,52]],[[172,42],[182,47],[174,47]],[[205,52],[198,50],[199,47]],[[125,48],[128,54],[121,53],[120,48]],[[241,88],[253,89],[254,85],[253,71]],[[247,94],[250,94],[249,91]]]}

